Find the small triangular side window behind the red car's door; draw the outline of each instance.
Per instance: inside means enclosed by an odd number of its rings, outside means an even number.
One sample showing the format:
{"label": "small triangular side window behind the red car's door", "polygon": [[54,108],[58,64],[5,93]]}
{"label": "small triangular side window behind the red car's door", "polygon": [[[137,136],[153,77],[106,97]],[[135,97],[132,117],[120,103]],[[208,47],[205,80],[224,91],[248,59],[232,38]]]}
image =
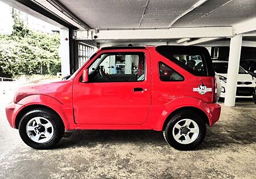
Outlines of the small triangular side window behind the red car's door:
{"label": "small triangular side window behind the red car's door", "polygon": [[182,81],[184,77],[163,62],[159,63],[159,77],[163,82]]}

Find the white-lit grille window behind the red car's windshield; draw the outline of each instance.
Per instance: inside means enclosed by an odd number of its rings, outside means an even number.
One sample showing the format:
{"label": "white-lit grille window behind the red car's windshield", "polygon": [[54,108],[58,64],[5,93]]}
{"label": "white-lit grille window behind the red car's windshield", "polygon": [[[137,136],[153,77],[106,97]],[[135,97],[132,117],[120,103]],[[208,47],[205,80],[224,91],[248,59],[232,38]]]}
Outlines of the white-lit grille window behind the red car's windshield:
{"label": "white-lit grille window behind the red car's windshield", "polygon": [[94,53],[94,48],[89,45],[79,43],[79,67],[88,61],[89,57]]}

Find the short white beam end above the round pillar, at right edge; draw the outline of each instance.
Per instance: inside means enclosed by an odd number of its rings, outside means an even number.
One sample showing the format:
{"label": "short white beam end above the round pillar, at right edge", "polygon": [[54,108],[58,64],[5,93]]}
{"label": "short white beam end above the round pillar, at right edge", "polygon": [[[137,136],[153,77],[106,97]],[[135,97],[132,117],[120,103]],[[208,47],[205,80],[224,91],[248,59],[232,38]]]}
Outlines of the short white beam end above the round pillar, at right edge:
{"label": "short white beam end above the round pillar, at right edge", "polygon": [[256,17],[233,25],[234,34],[250,33],[256,31]]}

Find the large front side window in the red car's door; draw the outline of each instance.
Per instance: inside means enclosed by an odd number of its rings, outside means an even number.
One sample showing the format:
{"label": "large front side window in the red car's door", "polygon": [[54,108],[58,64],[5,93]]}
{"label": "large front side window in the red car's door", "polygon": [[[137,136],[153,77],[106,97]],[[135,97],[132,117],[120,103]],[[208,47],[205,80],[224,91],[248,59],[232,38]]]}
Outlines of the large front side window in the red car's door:
{"label": "large front side window in the red car's door", "polygon": [[101,54],[89,67],[89,82],[137,82],[145,79],[144,53]]}

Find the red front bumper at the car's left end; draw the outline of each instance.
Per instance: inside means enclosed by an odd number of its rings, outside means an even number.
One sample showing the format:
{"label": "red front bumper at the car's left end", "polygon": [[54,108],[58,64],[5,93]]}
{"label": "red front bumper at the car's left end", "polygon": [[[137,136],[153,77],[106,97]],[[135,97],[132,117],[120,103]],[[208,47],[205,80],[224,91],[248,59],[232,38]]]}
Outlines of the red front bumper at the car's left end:
{"label": "red front bumper at the car's left end", "polygon": [[18,112],[23,108],[23,105],[21,104],[15,104],[10,103],[6,106],[5,112],[8,122],[10,123],[10,126],[13,128],[18,128],[18,126],[15,126],[15,118]]}

